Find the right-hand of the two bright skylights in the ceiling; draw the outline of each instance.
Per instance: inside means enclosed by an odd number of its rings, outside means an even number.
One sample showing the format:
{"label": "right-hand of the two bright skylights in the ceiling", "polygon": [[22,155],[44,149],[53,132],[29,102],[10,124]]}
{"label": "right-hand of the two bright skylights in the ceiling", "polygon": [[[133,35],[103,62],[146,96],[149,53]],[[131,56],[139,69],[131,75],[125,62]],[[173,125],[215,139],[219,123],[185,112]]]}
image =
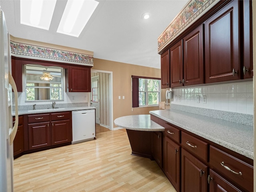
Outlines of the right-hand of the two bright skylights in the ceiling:
{"label": "right-hand of the two bright skylights in the ceiling", "polygon": [[95,0],[68,0],[57,32],[78,37],[98,4]]}

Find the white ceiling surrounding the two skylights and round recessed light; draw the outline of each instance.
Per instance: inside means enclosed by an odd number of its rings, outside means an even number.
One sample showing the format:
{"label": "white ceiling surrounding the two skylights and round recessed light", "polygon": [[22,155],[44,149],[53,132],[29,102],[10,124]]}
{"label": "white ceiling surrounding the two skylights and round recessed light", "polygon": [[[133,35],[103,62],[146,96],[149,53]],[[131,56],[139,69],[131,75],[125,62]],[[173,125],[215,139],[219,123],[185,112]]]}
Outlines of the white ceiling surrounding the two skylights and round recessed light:
{"label": "white ceiling surrounding the two skylights and round recessed light", "polygon": [[[93,51],[94,58],[160,68],[157,38],[188,1],[98,1],[78,38],[56,32],[66,0],[57,0],[49,31],[20,24],[20,0],[0,0],[0,6],[14,37]],[[142,18],[145,12],[150,12],[147,20]]]}

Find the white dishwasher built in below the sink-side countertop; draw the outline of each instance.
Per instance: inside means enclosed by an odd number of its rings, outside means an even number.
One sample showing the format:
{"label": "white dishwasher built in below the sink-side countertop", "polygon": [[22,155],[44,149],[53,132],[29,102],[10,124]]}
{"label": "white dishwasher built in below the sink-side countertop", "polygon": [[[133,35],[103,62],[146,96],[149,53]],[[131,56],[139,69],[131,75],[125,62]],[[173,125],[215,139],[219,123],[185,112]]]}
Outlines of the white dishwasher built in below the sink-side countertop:
{"label": "white dishwasher built in below the sink-side countertop", "polygon": [[72,144],[95,138],[95,109],[72,111]]}

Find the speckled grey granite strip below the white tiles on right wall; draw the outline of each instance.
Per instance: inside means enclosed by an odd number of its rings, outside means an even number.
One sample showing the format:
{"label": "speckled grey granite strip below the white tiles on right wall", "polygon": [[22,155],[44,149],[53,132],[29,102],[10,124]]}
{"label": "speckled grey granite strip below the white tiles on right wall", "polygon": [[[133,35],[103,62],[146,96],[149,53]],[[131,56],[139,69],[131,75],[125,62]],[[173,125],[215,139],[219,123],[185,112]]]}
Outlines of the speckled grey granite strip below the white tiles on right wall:
{"label": "speckled grey granite strip below the white tiles on right wall", "polygon": [[184,105],[177,105],[177,104],[171,104],[171,108],[175,110],[193,113],[193,114],[226,120],[229,122],[235,122],[235,123],[240,123],[248,126],[253,126],[253,115],[249,115],[249,114],[213,110],[213,109],[206,109],[206,108],[199,108],[199,107],[192,107],[192,106],[184,106]]}

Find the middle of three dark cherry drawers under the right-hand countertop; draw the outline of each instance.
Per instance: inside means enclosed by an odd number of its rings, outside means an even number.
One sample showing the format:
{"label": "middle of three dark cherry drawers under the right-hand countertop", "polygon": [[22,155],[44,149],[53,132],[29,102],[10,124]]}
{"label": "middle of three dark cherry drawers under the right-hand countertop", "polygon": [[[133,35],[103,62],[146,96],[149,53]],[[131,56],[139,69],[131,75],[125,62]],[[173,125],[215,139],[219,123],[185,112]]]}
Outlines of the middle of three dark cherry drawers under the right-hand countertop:
{"label": "middle of three dark cherry drawers under the right-hand countertop", "polygon": [[181,132],[181,143],[190,152],[208,162],[208,144],[189,134]]}

